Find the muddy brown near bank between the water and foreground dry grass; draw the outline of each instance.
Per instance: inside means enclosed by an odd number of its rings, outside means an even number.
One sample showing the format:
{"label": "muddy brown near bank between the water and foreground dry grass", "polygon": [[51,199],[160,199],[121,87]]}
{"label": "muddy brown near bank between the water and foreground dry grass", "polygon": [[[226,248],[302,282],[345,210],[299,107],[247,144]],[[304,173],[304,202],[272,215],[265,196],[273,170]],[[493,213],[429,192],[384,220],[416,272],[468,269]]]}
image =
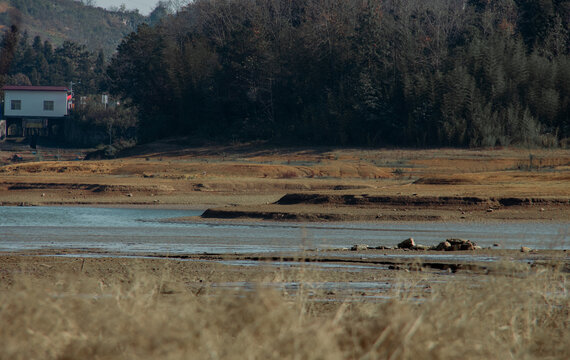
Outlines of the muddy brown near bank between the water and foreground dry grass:
{"label": "muddy brown near bank between the water and foreground dry grass", "polygon": [[[355,253],[361,256],[353,256]],[[89,257],[83,257],[85,254]],[[279,273],[283,279],[296,282],[303,281],[299,276],[309,270],[307,266],[323,263],[369,266],[368,270],[361,268],[358,272],[324,271],[318,273],[319,281],[333,282],[390,281],[398,276],[399,272],[409,271],[421,271],[424,275],[432,277],[432,280],[450,273],[462,276],[492,275],[505,270],[513,270],[513,267],[517,267],[517,270],[526,269],[526,271],[556,267],[564,273],[570,272],[570,258],[567,251],[559,250],[540,250],[529,253],[501,249],[455,251],[453,254],[460,255],[459,258],[449,257],[449,259],[437,258],[423,261],[419,257],[416,259],[410,257],[413,254],[437,255],[443,252],[403,249],[369,249],[354,252],[339,249],[291,254],[133,254],[125,256],[96,249],[32,250],[0,253],[0,285],[10,286],[15,277],[21,275],[30,275],[38,279],[57,279],[58,276],[66,273],[82,273],[85,276],[110,280],[111,278],[128,279],[135,273],[160,277],[167,272],[170,280],[193,288],[220,282],[263,282]],[[93,255],[98,256],[93,257]],[[367,257],[367,255],[386,256]],[[469,259],[465,257],[466,255],[493,257],[498,260],[480,262],[477,258]],[[222,263],[235,260],[246,260],[250,263],[257,263],[258,266]],[[516,264],[519,265],[516,265],[513,260],[517,260]],[[276,261],[283,265],[271,266],[271,263]]]}

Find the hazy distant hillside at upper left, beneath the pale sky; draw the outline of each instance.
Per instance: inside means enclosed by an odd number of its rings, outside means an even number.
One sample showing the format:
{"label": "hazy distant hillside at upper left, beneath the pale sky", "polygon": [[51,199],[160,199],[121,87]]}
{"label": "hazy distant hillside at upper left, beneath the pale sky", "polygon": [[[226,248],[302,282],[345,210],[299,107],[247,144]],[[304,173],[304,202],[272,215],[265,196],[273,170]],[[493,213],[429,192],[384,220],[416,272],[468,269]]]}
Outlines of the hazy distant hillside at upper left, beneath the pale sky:
{"label": "hazy distant hillside at upper left, beneath the pale sky", "polygon": [[[84,1],[89,3],[89,1]],[[138,11],[109,11],[77,0],[0,0],[0,31],[12,24],[58,46],[65,40],[112,54],[121,39],[146,21]]]}

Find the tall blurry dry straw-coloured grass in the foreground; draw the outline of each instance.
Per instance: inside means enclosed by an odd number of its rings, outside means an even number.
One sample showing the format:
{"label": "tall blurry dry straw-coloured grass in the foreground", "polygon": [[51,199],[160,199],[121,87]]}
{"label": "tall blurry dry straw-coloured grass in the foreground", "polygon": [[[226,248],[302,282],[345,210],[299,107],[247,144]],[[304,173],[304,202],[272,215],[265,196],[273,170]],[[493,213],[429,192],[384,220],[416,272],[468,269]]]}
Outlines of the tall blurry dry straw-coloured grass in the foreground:
{"label": "tall blurry dry straw-coloured grass in the foreground", "polygon": [[168,273],[21,275],[0,293],[0,359],[570,358],[568,274],[519,270],[406,273],[390,300],[334,303]]}

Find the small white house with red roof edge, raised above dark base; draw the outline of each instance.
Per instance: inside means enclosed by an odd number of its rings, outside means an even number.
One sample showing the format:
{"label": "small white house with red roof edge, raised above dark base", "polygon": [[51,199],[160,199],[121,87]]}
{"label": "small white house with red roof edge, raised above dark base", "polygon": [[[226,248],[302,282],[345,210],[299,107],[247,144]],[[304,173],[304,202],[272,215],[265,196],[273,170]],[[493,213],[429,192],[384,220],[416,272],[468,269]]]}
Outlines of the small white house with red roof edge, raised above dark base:
{"label": "small white house with red roof edge, raised above dark base", "polygon": [[4,86],[7,135],[51,136],[68,115],[71,95],[62,86]]}

